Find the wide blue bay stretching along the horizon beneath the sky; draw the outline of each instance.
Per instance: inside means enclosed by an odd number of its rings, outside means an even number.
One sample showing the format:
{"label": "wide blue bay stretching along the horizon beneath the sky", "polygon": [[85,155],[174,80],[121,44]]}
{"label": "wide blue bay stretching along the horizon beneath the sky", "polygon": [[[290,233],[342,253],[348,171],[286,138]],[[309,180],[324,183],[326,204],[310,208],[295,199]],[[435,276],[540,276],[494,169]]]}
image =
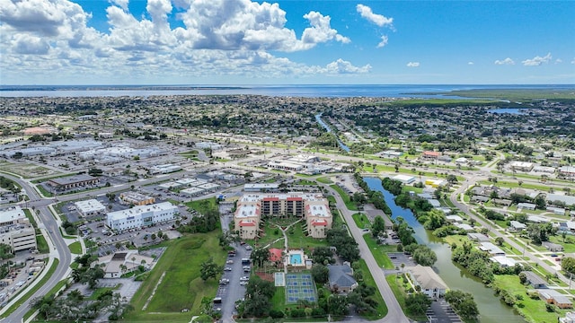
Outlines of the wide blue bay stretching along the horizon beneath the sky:
{"label": "wide blue bay stretching along the horizon beneath the sky", "polygon": [[[156,87],[156,88],[155,88]],[[570,89],[573,85],[2,85],[0,97],[148,97],[153,95],[228,95],[252,94],[281,97],[343,98],[394,97],[468,99],[453,95],[430,94],[456,90],[485,89]]]}

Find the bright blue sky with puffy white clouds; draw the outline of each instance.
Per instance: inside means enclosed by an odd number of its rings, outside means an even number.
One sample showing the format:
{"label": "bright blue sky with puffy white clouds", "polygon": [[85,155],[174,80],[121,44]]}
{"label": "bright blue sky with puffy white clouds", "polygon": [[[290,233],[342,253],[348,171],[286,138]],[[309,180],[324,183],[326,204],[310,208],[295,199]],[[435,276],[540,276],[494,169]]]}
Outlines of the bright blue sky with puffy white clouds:
{"label": "bright blue sky with puffy white clouds", "polygon": [[0,84],[575,83],[575,1],[0,0]]}

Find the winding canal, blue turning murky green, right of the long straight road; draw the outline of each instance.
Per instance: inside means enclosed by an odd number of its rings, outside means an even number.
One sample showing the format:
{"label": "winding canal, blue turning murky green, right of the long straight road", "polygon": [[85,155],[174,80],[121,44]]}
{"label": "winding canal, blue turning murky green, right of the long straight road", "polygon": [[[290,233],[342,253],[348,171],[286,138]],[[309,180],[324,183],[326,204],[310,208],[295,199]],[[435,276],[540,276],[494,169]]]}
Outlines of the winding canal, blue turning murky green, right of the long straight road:
{"label": "winding canal, blue turning murky green, right of the long straight road", "polygon": [[430,231],[415,219],[410,209],[404,209],[395,204],[394,195],[386,191],[381,185],[381,179],[365,178],[367,186],[373,190],[384,194],[385,202],[392,210],[392,218],[403,217],[406,223],[415,231],[415,239],[420,243],[429,246],[438,255],[434,269],[438,275],[446,282],[450,289],[458,289],[464,292],[473,293],[473,298],[477,303],[480,312],[481,323],[525,323],[513,309],[503,304],[499,297],[495,296],[493,290],[486,287],[473,275],[451,261],[451,249],[440,239],[433,236]]}

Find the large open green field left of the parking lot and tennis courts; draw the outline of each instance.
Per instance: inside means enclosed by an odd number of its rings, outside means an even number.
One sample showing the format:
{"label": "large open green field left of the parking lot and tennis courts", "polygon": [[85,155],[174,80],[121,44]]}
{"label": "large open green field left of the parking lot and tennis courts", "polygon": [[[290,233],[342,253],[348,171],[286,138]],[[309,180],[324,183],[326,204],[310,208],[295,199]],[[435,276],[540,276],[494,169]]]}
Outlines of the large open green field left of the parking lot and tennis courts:
{"label": "large open green field left of the parking lot and tennis courts", "polygon": [[[199,277],[200,264],[213,258],[217,264],[223,265],[226,259],[226,252],[218,246],[218,234],[219,231],[196,233],[163,242],[161,245],[168,249],[132,298],[130,304],[135,310],[127,315],[126,320],[188,322],[191,314],[199,314],[201,299],[213,298],[218,286],[216,279],[204,282]],[[146,310],[142,310],[164,273],[155,296]],[[190,313],[181,313],[182,309],[190,309]]]}

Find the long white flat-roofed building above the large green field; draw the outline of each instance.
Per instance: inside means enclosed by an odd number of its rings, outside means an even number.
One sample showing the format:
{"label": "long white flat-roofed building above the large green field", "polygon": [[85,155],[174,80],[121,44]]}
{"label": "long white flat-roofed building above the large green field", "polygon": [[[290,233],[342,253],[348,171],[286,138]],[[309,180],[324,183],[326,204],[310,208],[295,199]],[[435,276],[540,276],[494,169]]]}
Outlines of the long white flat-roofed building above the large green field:
{"label": "long white flat-roofed building above the large green field", "polygon": [[127,210],[109,213],[106,224],[116,231],[141,229],[155,223],[171,221],[176,214],[178,214],[178,206],[170,202],[138,205]]}

